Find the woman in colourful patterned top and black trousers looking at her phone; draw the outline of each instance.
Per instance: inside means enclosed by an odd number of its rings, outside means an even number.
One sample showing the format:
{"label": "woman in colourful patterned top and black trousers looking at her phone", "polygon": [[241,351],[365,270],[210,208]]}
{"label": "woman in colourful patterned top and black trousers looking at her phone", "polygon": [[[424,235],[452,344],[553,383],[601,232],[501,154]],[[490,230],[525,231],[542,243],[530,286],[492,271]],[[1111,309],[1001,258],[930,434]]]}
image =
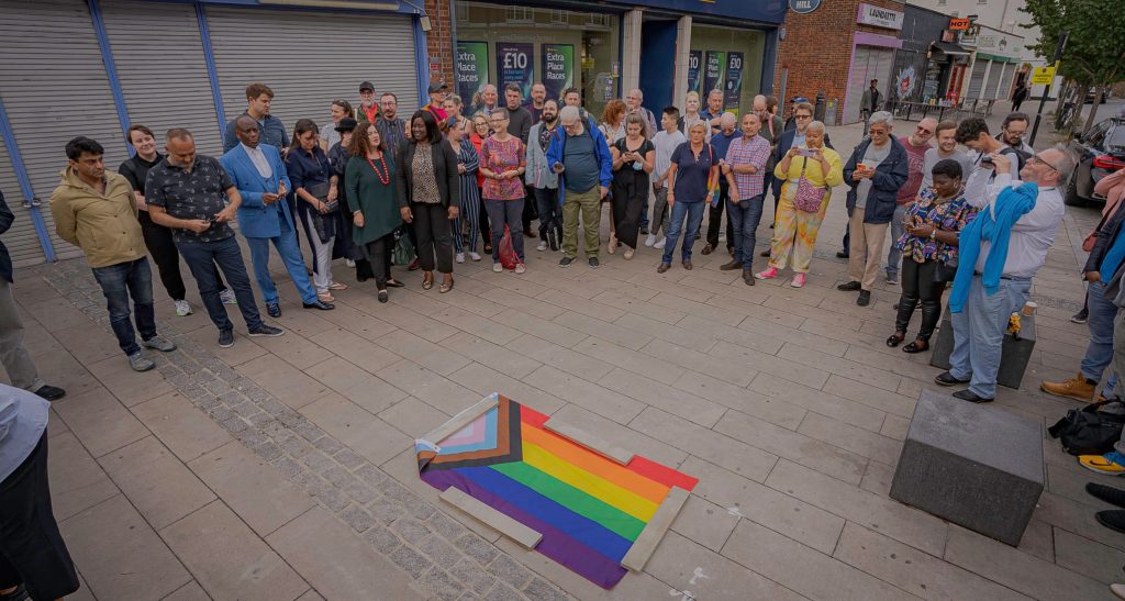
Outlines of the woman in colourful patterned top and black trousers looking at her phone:
{"label": "woman in colourful patterned top and black trousers looking at her phone", "polygon": [[902,251],[902,297],[888,347],[906,340],[910,317],[921,299],[918,338],[902,347],[903,352],[929,349],[929,337],[942,316],[946,275],[952,276],[957,264],[957,237],[976,216],[976,209],[965,201],[961,163],[953,159],[938,161],[933,173],[934,186],[918,192],[918,199],[907,208],[906,233],[896,243]]}

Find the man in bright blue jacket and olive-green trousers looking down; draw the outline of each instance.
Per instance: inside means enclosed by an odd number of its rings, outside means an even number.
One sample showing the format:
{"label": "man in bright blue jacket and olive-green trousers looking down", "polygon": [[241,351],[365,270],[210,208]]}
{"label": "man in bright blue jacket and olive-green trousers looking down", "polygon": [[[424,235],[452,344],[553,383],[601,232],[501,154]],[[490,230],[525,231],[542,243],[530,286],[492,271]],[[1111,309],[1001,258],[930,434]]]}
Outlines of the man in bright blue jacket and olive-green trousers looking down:
{"label": "man in bright blue jacket and olive-green trousers looking down", "polygon": [[559,267],[569,267],[578,255],[580,210],[586,230],[586,257],[590,267],[596,269],[601,246],[601,201],[609,194],[613,180],[610,146],[596,127],[586,126],[577,107],[562,107],[559,120],[562,131],[555,134],[547,149],[547,162],[559,173],[559,204],[562,205],[562,259]]}

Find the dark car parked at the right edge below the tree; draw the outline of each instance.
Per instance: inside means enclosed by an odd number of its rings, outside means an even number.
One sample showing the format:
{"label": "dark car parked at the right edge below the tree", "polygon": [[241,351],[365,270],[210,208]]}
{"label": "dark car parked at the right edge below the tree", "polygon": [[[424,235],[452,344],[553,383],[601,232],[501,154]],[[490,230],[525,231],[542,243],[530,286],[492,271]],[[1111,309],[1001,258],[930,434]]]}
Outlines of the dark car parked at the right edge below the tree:
{"label": "dark car parked at the right edge below the tree", "polygon": [[1125,117],[1110,117],[1070,144],[1078,165],[1066,186],[1065,203],[1071,206],[1105,203],[1104,197],[1094,194],[1094,185],[1109,173],[1125,169]]}

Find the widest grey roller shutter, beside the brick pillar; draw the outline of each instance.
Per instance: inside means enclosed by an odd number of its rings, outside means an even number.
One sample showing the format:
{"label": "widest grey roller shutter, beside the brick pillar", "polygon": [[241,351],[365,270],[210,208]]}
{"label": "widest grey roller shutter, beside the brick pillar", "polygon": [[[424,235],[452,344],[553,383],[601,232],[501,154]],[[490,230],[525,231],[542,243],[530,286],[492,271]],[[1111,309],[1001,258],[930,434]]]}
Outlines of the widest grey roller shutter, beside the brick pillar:
{"label": "widest grey roller shutter, beside the brick pillar", "polygon": [[302,118],[324,127],[336,98],[359,106],[364,80],[397,95],[400,116],[418,106],[410,17],[208,6],[207,23],[228,120],[246,109],[255,81],[273,90],[271,114],[289,135]]}

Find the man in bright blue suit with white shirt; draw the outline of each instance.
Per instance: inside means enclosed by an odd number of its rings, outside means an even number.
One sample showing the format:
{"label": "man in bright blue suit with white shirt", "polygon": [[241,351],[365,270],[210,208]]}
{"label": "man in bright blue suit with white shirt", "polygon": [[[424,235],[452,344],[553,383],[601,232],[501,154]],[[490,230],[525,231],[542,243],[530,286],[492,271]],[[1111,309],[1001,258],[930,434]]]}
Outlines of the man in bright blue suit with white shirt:
{"label": "man in bright blue suit with white shirt", "polygon": [[278,289],[270,277],[270,242],[278,250],[286,270],[292,279],[305,308],[328,311],[331,303],[316,298],[316,290],[308,279],[304,258],[297,246],[297,231],[294,228],[289,204],[285,201],[289,190],[281,154],[271,145],[260,145],[261,131],[253,117],[243,115],[234,122],[234,134],[238,145],[219,159],[219,164],[234,180],[242,205],[238,207],[238,226],[250,245],[250,260],[254,264],[254,278],[266,300],[266,312],[271,317],[281,316]]}

